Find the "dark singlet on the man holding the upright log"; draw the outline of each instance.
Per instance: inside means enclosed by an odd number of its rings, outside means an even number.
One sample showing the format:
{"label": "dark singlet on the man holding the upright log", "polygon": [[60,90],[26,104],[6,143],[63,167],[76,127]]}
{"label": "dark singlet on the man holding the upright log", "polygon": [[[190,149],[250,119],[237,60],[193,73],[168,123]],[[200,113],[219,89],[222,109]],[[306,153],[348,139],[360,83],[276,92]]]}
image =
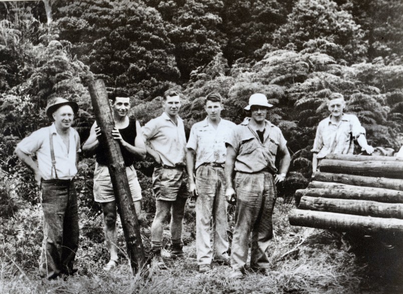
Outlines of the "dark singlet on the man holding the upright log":
{"label": "dark singlet on the man holding the upright log", "polygon": [[[122,138],[128,142],[130,145],[134,146],[134,139],[137,135],[136,132],[136,120],[129,120],[129,125],[125,128],[119,128],[119,132],[122,135]],[[120,151],[123,155],[124,164],[126,166],[130,166],[134,163],[133,153],[129,152],[125,147],[120,145]],[[104,145],[99,144],[95,150],[96,160],[98,164],[108,165],[108,158],[106,156],[106,148]]]}

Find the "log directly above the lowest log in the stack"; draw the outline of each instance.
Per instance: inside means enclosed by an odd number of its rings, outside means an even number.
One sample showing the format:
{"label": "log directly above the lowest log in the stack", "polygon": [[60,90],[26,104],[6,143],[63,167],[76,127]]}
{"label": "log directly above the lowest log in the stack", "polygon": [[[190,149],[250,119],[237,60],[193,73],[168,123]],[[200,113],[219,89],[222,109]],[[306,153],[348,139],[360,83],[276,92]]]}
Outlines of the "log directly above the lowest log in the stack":
{"label": "log directly above the lowest log in the stack", "polygon": [[403,218],[402,203],[390,204],[367,200],[329,199],[303,196],[298,208],[373,217]]}

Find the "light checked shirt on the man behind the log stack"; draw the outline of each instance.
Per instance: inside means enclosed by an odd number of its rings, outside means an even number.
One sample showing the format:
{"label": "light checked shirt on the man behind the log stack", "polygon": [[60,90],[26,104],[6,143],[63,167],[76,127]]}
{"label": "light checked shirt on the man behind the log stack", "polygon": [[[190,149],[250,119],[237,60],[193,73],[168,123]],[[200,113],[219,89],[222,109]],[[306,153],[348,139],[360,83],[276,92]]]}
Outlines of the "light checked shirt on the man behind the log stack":
{"label": "light checked shirt on the man behind the log stack", "polygon": [[352,154],[354,139],[360,134],[365,135],[358,117],[354,114],[343,113],[341,121],[336,124],[330,120],[331,115],[319,122],[316,130],[312,152],[317,152],[317,158],[327,154]]}

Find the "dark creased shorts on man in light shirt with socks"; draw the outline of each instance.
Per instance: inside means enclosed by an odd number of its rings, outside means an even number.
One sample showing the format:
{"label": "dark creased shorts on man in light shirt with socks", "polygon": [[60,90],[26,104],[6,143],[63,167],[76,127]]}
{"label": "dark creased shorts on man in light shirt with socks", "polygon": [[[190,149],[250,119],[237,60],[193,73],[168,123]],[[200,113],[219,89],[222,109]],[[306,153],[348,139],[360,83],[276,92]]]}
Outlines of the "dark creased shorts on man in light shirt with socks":
{"label": "dark creased shorts on man in light shirt with socks", "polygon": [[187,173],[184,168],[154,167],[152,190],[157,200],[175,201],[189,196]]}

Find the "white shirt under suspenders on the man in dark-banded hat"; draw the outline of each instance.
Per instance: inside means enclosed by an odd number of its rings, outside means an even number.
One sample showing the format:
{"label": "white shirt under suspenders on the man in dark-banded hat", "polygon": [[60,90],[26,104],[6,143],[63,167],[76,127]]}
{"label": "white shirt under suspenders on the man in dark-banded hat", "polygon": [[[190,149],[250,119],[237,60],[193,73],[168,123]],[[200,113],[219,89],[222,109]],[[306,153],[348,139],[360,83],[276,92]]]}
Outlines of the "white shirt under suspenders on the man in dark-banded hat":
{"label": "white shirt under suspenders on the man in dark-banded hat", "polygon": [[51,133],[53,134],[57,176],[60,179],[72,179],[77,173],[76,155],[77,152],[81,152],[80,136],[74,128],[69,129],[69,150],[62,137],[57,133],[55,123],[34,131],[18,143],[17,147],[28,155],[37,155],[38,168],[44,179],[56,178],[55,170],[52,172]]}

